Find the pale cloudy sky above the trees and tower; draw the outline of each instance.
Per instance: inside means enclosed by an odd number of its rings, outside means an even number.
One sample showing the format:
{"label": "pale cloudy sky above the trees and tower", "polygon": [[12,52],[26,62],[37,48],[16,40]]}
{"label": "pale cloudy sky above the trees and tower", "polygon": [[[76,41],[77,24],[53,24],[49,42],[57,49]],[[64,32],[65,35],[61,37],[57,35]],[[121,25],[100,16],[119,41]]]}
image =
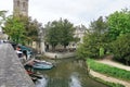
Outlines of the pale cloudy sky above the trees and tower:
{"label": "pale cloudy sky above the trees and tower", "polygon": [[[130,0],[29,0],[29,13],[42,25],[54,20],[67,18],[75,26],[89,26],[100,16],[130,9]],[[13,13],[13,0],[0,0],[0,10]]]}

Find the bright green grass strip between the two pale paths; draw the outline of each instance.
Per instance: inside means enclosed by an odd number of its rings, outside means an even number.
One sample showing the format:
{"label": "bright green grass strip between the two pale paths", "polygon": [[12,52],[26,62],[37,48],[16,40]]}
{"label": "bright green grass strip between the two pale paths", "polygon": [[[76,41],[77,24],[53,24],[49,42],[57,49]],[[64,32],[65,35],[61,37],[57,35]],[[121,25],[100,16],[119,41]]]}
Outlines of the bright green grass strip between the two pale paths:
{"label": "bright green grass strip between the two pale paths", "polygon": [[108,76],[113,76],[119,79],[123,79],[123,80],[130,80],[130,72],[126,71],[126,70],[121,70],[118,67],[114,67],[110,65],[106,65],[106,64],[102,64],[99,63],[92,59],[88,59],[87,63],[89,65],[89,67],[95,72],[108,75]]}

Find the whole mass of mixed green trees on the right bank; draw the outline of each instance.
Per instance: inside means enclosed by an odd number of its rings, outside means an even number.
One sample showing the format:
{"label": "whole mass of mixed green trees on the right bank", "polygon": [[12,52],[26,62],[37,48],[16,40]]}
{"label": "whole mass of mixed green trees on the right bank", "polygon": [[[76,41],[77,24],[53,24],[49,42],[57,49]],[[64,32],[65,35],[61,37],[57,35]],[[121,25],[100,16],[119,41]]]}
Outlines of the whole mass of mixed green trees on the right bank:
{"label": "whole mass of mixed green trees on the right bank", "polygon": [[[80,58],[102,58],[114,54],[114,59],[130,64],[130,11],[116,11],[103,20],[91,22],[83,44],[77,49]],[[82,50],[83,49],[83,50]]]}

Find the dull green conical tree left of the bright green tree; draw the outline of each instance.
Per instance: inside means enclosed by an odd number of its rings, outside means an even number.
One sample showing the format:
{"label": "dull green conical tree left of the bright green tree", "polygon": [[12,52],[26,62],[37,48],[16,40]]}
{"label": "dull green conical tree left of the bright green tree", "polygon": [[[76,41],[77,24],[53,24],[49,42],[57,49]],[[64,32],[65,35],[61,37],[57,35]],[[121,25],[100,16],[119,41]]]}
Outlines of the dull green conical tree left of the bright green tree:
{"label": "dull green conical tree left of the bright green tree", "polygon": [[100,58],[100,49],[104,49],[107,46],[107,24],[101,16],[98,21],[91,22],[88,30],[89,33],[86,34],[83,44],[77,49],[77,55],[79,58]]}

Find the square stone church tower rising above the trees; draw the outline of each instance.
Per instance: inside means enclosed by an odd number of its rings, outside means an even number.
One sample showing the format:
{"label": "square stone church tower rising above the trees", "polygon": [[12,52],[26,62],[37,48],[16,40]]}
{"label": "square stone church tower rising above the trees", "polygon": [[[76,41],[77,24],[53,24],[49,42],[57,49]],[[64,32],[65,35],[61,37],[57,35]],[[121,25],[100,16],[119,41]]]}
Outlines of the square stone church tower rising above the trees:
{"label": "square stone church tower rising above the trees", "polygon": [[13,0],[13,14],[28,16],[28,0]]}

